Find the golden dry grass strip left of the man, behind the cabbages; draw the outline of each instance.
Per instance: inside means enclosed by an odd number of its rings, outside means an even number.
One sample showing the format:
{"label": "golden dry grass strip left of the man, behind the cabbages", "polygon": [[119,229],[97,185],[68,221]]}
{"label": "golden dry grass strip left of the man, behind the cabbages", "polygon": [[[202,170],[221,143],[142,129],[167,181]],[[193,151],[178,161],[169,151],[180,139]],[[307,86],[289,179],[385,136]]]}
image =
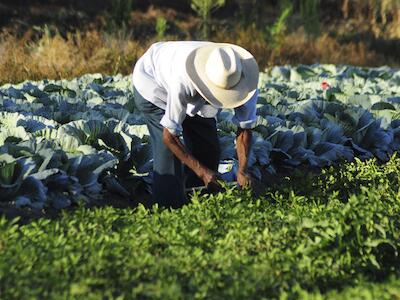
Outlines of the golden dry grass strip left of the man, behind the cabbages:
{"label": "golden dry grass strip left of the man, behind the cabbages", "polygon": [[0,83],[71,78],[96,72],[128,74],[147,46],[148,43],[97,31],[68,34],[66,38],[45,33],[35,42],[3,34]]}

